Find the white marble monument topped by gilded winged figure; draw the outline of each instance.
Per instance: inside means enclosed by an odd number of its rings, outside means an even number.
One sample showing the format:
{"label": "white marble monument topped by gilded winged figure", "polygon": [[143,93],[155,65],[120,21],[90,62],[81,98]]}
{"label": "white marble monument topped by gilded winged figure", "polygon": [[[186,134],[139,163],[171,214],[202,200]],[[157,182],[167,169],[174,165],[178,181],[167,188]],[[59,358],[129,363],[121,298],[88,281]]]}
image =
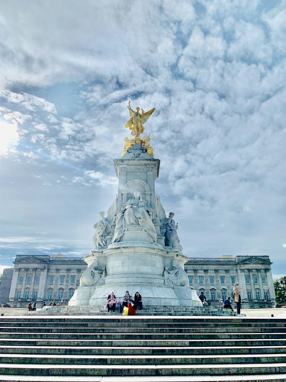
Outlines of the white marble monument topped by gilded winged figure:
{"label": "white marble monument topped by gilded winged figure", "polygon": [[118,197],[94,225],[94,249],[85,256],[88,264],[69,305],[104,305],[111,290],[121,300],[125,291],[139,292],[143,304],[155,306],[202,306],[189,286],[184,264],[188,257],[177,235],[174,213],[166,216],[155,193],[160,160],[154,159],[150,134],[141,138],[143,124],[154,112],[135,111],[125,128],[121,159],[114,160]]}

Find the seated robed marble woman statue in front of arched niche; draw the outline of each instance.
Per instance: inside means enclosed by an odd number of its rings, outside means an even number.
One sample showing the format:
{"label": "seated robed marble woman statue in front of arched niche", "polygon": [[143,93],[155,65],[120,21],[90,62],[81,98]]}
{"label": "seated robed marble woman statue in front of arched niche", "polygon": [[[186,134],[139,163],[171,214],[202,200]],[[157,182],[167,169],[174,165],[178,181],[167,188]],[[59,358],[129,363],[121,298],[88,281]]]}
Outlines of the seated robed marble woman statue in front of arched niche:
{"label": "seated robed marble woman statue in front of arched niche", "polygon": [[141,227],[156,243],[157,234],[152,219],[153,209],[142,199],[140,191],[135,190],[133,198],[129,199],[126,205],[123,205],[122,209],[119,210],[112,243],[121,241],[124,231],[132,230],[132,228],[136,230],[136,227]]}

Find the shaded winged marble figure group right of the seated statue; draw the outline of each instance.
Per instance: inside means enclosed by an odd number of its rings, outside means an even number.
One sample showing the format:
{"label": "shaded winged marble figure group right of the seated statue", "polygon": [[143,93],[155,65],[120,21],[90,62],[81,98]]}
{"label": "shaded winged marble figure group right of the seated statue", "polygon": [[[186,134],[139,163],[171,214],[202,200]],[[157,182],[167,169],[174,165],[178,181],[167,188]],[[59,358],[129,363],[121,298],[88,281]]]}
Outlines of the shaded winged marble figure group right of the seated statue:
{"label": "shaded winged marble figure group right of the seated statue", "polygon": [[166,213],[160,202],[160,197],[156,195],[156,217],[160,221],[160,233],[161,236],[165,236],[165,246],[173,247],[179,251],[183,250],[180,244],[180,240],[177,235],[178,223],[173,220],[174,213],[170,212],[169,217],[166,217]]}

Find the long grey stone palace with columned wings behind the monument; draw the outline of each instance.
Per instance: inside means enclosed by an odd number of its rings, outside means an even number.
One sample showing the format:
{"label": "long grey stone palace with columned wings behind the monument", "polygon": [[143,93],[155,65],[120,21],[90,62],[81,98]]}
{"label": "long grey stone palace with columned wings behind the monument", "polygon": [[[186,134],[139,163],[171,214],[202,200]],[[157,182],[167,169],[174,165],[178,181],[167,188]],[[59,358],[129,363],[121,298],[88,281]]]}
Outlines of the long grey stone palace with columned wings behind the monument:
{"label": "long grey stone palace with columned wings behind the monument", "polygon": [[[202,291],[214,304],[231,296],[233,286],[238,282],[243,308],[273,308],[275,291],[271,264],[269,256],[190,257],[185,271],[190,287],[198,295]],[[43,301],[65,305],[79,286],[80,276],[86,268],[83,257],[17,255],[13,276],[6,280],[6,284],[11,282],[9,301],[6,302],[18,308],[26,307],[29,301],[37,301],[39,308]]]}

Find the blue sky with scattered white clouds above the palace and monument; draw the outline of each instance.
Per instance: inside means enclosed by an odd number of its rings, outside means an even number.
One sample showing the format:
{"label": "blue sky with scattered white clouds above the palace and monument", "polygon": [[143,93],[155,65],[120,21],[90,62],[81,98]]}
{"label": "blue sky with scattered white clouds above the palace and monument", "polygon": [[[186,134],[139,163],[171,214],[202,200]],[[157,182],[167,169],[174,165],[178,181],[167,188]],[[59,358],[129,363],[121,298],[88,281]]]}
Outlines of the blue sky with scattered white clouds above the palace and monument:
{"label": "blue sky with scattered white clouds above the palace and monument", "polygon": [[131,100],[156,107],[156,192],[184,253],[285,274],[285,20],[274,0],[2,0],[0,264],[92,249]]}

